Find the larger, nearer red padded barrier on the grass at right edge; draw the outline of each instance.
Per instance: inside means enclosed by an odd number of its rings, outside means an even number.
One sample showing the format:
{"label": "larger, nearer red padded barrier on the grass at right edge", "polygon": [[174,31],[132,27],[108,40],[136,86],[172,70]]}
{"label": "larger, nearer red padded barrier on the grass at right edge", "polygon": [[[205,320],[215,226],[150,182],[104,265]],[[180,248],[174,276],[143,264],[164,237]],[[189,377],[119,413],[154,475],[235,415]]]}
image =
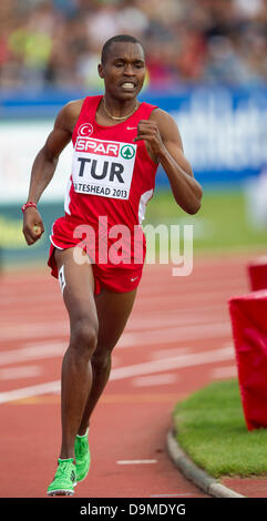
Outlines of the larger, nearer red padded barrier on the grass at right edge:
{"label": "larger, nearer red padded barrier on the grass at right edge", "polygon": [[228,304],[247,428],[267,428],[267,290]]}

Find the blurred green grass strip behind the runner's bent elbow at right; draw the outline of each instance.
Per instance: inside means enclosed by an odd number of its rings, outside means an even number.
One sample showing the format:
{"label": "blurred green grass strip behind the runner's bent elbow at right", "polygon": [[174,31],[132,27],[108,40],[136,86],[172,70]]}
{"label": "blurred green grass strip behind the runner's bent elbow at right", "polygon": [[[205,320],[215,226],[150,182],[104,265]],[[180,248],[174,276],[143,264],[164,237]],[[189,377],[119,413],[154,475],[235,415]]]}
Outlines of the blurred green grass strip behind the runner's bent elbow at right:
{"label": "blurred green grass strip behind the runner's bent elbow at right", "polygon": [[255,229],[250,223],[242,190],[204,190],[202,208],[196,215],[184,213],[171,191],[156,191],[147,205],[144,225],[151,223],[193,224],[194,252],[264,249],[267,227]]}

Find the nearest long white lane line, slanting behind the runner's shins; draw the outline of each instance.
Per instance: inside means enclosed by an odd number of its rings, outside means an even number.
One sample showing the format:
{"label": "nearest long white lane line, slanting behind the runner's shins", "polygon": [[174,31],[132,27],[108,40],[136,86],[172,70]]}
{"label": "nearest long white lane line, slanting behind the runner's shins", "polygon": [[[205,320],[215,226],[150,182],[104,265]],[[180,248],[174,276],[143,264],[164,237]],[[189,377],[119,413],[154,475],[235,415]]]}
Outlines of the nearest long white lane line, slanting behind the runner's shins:
{"label": "nearest long white lane line, slanting behind the runner's shins", "polygon": [[[134,366],[126,366],[115,368],[111,371],[110,380],[121,380],[123,378],[131,378],[138,375],[150,375],[153,372],[164,372],[166,370],[182,369],[183,367],[196,367],[206,364],[215,364],[223,360],[232,360],[235,358],[235,353],[232,347],[224,349],[208,350],[199,354],[182,355],[181,357],[172,357],[162,360],[147,361]],[[14,389],[7,392],[0,392],[0,403],[7,401],[19,400],[21,398],[29,398],[32,396],[40,396],[50,392],[59,392],[61,388],[60,380],[49,381],[32,387],[24,387],[22,389]]]}

